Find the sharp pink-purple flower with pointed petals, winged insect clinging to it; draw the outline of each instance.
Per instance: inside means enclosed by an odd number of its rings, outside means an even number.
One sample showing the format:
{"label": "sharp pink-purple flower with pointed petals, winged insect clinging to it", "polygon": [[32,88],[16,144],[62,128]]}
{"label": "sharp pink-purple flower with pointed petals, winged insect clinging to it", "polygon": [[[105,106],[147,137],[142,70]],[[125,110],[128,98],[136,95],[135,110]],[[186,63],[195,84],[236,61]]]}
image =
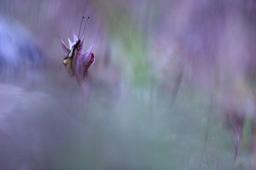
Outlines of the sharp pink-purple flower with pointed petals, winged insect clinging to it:
{"label": "sharp pink-purple flower with pointed petals, winged insect clinging to it", "polygon": [[[74,61],[70,60],[74,63],[70,63],[68,68],[72,70],[68,70],[68,72],[70,73],[71,71],[71,73],[74,73],[76,80],[80,86],[80,89],[82,90],[81,98],[84,99],[85,102],[87,103],[89,102],[89,88],[90,88],[88,68],[94,62],[94,55],[92,53],[92,49],[95,43],[92,44],[92,46],[89,48],[89,50],[86,53],[83,53],[83,40],[84,40],[85,34],[82,35],[81,39],[78,39],[73,29],[72,29],[72,32],[73,32],[74,42],[71,42],[70,39],[68,38],[69,48],[64,44],[64,42],[60,37],[59,39],[61,41],[61,46],[64,52],[66,53],[67,57],[75,57]],[[73,56],[73,54],[70,54],[70,51],[72,51],[72,48],[75,48],[73,49],[73,51],[77,50],[77,53],[74,54],[76,56]],[[73,65],[74,65],[74,68],[72,67]]]}

